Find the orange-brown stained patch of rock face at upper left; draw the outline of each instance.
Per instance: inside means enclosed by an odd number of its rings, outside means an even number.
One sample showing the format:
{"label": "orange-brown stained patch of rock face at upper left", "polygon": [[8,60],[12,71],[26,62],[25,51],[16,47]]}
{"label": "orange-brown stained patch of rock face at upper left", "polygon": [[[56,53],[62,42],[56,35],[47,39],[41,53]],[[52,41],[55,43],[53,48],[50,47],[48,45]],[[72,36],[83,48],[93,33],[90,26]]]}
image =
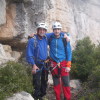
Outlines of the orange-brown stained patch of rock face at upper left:
{"label": "orange-brown stained patch of rock face at upper left", "polygon": [[16,6],[14,4],[6,7],[6,16],[3,16],[6,17],[6,23],[0,27],[0,40],[13,39],[17,35],[14,28],[15,8]]}

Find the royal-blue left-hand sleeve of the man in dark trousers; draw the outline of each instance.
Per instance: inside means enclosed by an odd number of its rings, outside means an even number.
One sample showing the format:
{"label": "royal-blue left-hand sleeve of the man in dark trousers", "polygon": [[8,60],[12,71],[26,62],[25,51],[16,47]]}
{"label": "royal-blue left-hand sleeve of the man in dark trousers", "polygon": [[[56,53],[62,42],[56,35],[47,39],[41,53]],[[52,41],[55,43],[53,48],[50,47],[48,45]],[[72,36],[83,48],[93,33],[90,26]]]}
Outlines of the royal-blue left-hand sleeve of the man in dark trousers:
{"label": "royal-blue left-hand sleeve of the man in dark trousers", "polygon": [[31,38],[28,41],[27,47],[26,47],[26,61],[31,64],[34,65],[34,39]]}

